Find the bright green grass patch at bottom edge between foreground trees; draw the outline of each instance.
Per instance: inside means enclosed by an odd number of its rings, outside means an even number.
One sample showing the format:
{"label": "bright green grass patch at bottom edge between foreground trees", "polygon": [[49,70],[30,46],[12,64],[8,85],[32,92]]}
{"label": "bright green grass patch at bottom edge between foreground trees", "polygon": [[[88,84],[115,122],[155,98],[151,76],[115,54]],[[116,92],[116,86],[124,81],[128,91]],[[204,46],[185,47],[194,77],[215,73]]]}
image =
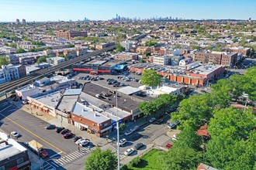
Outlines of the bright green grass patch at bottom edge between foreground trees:
{"label": "bright green grass patch at bottom edge between foreground trees", "polygon": [[143,155],[141,157],[140,163],[137,165],[137,167],[133,167],[131,165],[128,165],[128,168],[130,170],[138,170],[138,169],[144,169],[144,170],[161,170],[161,165],[158,162],[158,156],[161,154],[161,151],[157,149],[152,149],[147,152],[147,154]]}

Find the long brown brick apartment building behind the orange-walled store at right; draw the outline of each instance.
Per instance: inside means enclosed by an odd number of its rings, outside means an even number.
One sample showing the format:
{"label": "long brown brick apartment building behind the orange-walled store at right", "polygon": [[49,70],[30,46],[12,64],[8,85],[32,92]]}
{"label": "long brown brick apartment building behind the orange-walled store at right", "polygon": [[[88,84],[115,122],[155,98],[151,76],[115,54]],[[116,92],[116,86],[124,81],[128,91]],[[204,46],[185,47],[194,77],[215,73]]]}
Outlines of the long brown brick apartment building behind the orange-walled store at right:
{"label": "long brown brick apartment building behind the orange-walled store at right", "polygon": [[197,52],[197,53],[194,53],[193,60],[202,61],[202,63],[213,63],[213,64],[220,64],[223,66],[233,67],[237,62],[237,53]]}

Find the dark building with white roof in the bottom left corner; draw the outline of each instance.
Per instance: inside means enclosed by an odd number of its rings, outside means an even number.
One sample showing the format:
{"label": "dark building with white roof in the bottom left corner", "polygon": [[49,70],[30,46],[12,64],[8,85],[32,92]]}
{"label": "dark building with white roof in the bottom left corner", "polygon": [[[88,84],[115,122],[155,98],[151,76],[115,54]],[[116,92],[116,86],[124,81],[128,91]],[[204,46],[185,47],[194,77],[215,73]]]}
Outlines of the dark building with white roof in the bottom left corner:
{"label": "dark building with white roof in the bottom left corner", "polygon": [[0,131],[0,169],[29,170],[31,162],[26,148]]}

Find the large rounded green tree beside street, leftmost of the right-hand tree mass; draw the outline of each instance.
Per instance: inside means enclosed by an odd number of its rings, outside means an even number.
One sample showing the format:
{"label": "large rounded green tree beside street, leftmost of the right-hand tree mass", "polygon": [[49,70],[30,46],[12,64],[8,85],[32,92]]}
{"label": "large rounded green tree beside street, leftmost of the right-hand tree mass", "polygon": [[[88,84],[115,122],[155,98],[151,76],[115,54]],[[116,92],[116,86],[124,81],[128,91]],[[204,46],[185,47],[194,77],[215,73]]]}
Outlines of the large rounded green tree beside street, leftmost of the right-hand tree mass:
{"label": "large rounded green tree beside street, leftmost of the right-hand tree mass", "polygon": [[172,113],[171,120],[179,121],[178,128],[191,126],[196,129],[205,124],[213,116],[213,100],[210,94],[192,95],[184,99],[178,106],[178,111]]}

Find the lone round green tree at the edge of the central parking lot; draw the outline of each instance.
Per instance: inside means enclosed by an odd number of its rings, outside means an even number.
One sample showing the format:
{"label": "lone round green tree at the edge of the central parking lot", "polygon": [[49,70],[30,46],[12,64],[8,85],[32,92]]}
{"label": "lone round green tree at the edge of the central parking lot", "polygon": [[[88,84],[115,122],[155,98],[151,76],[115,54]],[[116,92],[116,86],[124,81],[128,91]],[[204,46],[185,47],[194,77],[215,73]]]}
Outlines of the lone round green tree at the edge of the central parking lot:
{"label": "lone round green tree at the edge of the central parking lot", "polygon": [[157,87],[161,83],[161,76],[154,70],[145,70],[141,76],[141,83],[149,87]]}

